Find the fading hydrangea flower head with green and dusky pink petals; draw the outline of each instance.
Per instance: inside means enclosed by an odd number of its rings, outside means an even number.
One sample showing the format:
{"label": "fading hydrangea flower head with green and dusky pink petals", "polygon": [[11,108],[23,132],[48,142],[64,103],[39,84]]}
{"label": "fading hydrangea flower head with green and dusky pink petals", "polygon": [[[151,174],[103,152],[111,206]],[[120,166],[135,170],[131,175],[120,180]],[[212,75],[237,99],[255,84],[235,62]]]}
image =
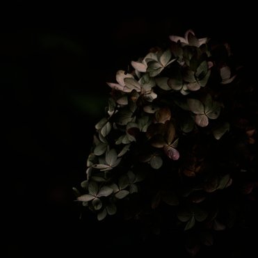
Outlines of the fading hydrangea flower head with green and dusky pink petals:
{"label": "fading hydrangea flower head with green and dusky pink petals", "polygon": [[236,200],[256,186],[258,108],[246,102],[252,87],[243,89],[229,45],[210,41],[191,30],[171,35],[167,49],[152,49],[107,83],[87,178],[74,188],[98,220],[121,212],[150,222],[166,213],[166,227],[197,232],[205,245],[237,220]]}

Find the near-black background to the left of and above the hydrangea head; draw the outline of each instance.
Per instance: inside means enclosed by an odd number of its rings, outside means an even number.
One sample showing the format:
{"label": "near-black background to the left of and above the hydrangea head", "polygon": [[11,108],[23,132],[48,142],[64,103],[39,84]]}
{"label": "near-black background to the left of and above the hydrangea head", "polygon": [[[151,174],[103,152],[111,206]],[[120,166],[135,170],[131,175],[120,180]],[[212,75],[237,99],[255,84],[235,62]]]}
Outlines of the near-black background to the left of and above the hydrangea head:
{"label": "near-black background to the left of and above the hydrangea head", "polygon": [[[250,65],[257,56],[254,12],[247,4],[210,1],[13,1],[1,8],[4,257],[135,255],[140,245],[131,225],[98,223],[91,214],[80,219],[72,192],[86,178],[94,125],[109,97],[106,81],[187,29],[198,38],[228,40]],[[239,240],[236,251],[236,242],[227,241],[229,257],[252,247]],[[154,241],[141,250],[162,255],[167,244]],[[212,257],[220,251],[215,246]]]}

